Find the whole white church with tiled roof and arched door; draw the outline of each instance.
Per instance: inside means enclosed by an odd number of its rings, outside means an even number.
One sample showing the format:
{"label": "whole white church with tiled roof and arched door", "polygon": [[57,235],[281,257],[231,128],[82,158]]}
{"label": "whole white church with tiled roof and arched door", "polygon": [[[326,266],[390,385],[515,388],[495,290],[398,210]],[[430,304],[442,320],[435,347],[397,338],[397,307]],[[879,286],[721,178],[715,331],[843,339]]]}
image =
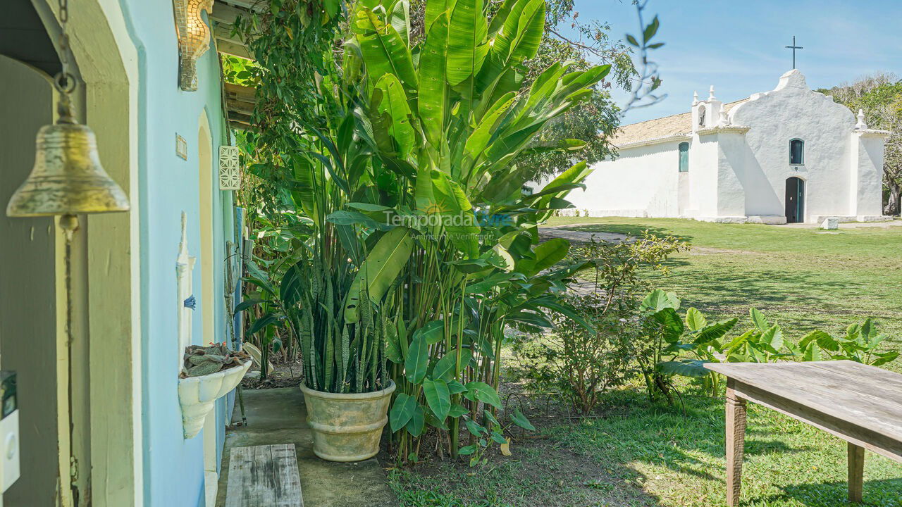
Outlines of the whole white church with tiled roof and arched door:
{"label": "whole white church with tiled roof and arched door", "polygon": [[612,142],[619,156],[596,164],[568,200],[592,217],[880,220],[889,134],[794,69],[769,92],[723,104],[712,87],[690,112],[622,126]]}

